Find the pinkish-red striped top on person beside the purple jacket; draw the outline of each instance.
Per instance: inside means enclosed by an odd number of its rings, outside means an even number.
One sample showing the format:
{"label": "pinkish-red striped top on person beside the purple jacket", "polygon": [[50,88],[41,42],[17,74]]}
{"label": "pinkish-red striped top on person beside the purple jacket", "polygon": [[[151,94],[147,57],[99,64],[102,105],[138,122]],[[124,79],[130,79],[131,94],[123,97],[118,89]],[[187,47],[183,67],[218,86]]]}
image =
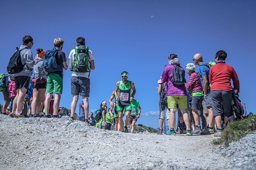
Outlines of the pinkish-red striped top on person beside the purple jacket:
{"label": "pinkish-red striped top on person beside the purple jacket", "polygon": [[189,92],[202,91],[202,84],[198,73],[191,73],[191,75],[189,76],[189,82],[186,84],[186,88]]}

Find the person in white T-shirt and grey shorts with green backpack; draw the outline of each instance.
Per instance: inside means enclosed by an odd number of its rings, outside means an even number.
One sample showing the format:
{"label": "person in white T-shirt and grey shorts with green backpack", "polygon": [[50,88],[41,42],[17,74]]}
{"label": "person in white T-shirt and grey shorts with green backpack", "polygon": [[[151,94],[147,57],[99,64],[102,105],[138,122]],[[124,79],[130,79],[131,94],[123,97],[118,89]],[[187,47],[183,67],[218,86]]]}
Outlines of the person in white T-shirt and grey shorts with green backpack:
{"label": "person in white T-shirt and grey shorts with green backpack", "polygon": [[76,110],[79,94],[83,98],[83,109],[85,110],[85,122],[88,121],[89,113],[89,95],[90,95],[90,70],[94,70],[94,56],[92,51],[85,46],[85,38],[78,37],[76,39],[77,46],[71,50],[69,59],[69,68],[71,75],[71,95],[73,100],[71,102],[71,118],[74,119],[74,111]]}

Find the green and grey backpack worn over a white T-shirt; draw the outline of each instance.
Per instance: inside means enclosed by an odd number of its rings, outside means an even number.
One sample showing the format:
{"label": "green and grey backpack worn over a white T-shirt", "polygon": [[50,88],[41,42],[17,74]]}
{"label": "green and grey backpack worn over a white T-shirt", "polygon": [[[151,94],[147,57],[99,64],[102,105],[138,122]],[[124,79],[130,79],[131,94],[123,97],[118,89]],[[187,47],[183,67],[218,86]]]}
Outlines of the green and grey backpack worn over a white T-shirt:
{"label": "green and grey backpack worn over a white T-shirt", "polygon": [[74,50],[75,54],[73,71],[80,73],[90,72],[90,56],[88,46],[76,46]]}

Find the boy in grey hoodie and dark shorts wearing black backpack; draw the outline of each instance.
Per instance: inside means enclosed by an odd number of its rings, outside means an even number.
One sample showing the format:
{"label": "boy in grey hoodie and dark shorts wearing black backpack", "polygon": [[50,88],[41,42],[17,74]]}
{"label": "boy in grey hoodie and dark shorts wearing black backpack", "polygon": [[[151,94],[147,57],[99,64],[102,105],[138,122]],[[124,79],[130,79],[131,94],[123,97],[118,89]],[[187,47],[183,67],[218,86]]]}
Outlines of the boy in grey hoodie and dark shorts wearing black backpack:
{"label": "boy in grey hoodie and dark shorts wearing black backpack", "polygon": [[[23,44],[20,49],[14,54],[18,60],[13,60],[11,57],[7,66],[8,73],[14,74],[17,95],[13,101],[13,110],[11,111],[12,117],[24,117],[22,114],[22,105],[26,97],[27,89],[29,88],[30,76],[32,75],[32,67],[34,65],[33,55],[30,49],[33,47],[33,39],[31,36],[23,37]],[[21,69],[17,69],[17,65],[21,65]]]}

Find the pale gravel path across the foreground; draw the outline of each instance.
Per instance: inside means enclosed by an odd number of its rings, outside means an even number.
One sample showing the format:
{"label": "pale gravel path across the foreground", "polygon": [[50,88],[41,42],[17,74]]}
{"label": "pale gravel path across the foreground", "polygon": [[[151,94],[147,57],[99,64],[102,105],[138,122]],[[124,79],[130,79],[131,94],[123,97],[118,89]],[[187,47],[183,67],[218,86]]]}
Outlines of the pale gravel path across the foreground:
{"label": "pale gravel path across the foreground", "polygon": [[68,116],[0,115],[0,128],[0,169],[256,169],[255,134],[223,149],[213,135],[121,133]]}

